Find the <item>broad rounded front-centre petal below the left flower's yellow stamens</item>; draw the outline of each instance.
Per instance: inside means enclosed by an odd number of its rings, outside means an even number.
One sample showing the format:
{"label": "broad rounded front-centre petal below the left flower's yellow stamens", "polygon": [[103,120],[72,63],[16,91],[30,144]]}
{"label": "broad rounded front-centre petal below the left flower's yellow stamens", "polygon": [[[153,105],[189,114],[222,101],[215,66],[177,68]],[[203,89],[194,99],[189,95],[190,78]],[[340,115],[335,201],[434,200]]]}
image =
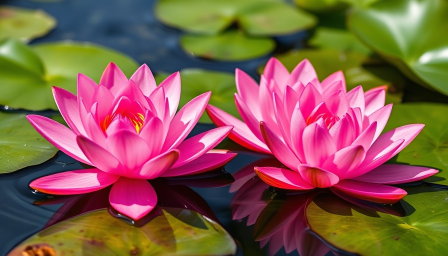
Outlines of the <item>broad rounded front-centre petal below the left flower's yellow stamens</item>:
{"label": "broad rounded front-centre petal below the left flower's yellow stamens", "polygon": [[150,154],[146,141],[129,130],[119,130],[108,136],[105,145],[107,151],[129,171],[140,167]]}

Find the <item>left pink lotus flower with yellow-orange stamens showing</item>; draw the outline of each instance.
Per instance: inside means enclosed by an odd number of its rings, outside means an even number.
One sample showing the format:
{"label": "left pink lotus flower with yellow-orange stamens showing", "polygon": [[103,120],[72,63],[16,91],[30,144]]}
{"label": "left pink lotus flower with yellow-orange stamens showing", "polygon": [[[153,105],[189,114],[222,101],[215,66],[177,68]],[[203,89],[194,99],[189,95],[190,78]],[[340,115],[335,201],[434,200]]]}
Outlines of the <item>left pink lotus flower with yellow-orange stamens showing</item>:
{"label": "left pink lotus flower with yellow-orange stamens showing", "polygon": [[77,96],[53,87],[64,125],[40,115],[27,118],[57,148],[91,169],[65,171],[29,185],[51,194],[80,194],[113,184],[113,208],[135,220],[147,214],[157,196],[146,179],[200,173],[227,163],[235,153],[210,150],[231,130],[211,129],[185,139],[202,114],[210,92],[186,103],[177,113],[180,75],[156,86],[146,65],[128,80],[110,63],[99,85],[78,75]]}

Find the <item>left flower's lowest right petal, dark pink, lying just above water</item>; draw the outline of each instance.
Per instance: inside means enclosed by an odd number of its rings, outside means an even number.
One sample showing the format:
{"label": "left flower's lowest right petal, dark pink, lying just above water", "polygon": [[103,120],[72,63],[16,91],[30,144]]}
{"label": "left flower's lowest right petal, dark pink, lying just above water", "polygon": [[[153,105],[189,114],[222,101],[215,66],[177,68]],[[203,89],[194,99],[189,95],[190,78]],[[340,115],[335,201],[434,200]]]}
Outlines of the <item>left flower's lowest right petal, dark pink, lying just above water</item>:
{"label": "left flower's lowest right petal, dark pink, lying just above water", "polygon": [[212,149],[192,161],[189,161],[176,168],[168,169],[161,176],[172,177],[202,173],[226,164],[235,156],[236,153],[230,152],[228,150]]}

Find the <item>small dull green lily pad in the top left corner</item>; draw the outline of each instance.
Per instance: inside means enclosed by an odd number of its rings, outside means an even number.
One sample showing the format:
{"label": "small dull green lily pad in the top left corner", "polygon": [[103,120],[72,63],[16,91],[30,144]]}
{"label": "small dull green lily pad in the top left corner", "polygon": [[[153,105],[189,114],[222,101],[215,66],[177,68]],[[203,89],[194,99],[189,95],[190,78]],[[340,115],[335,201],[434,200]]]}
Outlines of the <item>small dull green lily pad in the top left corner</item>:
{"label": "small dull green lily pad in the top left corner", "polygon": [[43,10],[0,6],[0,39],[29,41],[47,34],[55,25],[56,20]]}

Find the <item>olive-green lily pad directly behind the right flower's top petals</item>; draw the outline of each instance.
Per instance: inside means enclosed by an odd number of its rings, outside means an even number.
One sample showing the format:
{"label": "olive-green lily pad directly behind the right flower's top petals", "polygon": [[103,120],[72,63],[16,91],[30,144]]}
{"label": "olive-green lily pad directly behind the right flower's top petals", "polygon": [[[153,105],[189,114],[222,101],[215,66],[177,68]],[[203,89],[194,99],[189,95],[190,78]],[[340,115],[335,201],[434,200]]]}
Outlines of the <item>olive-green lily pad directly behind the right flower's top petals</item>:
{"label": "olive-green lily pad directly behind the right flower's top petals", "polygon": [[[331,49],[302,49],[292,50],[276,57],[289,71],[292,71],[302,59],[307,58],[314,66],[320,80],[323,80],[326,76],[337,70],[342,70],[345,76],[347,90],[358,85],[362,85],[364,90],[380,85],[388,85],[386,102],[401,102],[403,95],[402,88],[399,87],[401,84],[381,79],[363,68],[362,63],[367,60],[367,56],[364,54]],[[262,72],[262,68],[259,69],[260,72]]]}

